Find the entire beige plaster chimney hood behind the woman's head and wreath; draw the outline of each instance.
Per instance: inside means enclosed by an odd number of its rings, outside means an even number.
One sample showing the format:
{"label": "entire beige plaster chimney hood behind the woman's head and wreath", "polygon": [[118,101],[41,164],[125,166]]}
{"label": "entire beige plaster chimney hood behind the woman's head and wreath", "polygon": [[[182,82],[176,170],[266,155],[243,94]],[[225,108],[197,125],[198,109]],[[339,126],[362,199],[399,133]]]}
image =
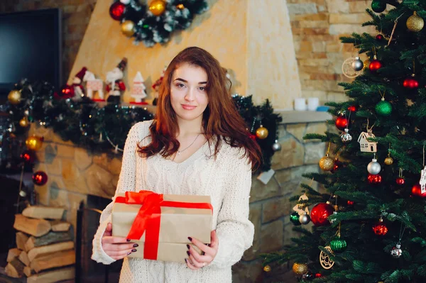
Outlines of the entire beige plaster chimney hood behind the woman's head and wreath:
{"label": "entire beige plaster chimney hood behind the woman's head and wreath", "polygon": [[[119,23],[108,16],[110,4],[97,1],[69,82],[83,66],[105,79],[121,57],[127,57],[126,85],[131,86],[140,71],[149,87],[180,50],[196,45],[230,70],[234,92],[253,94],[256,103],[269,98],[276,109],[283,109],[290,106],[290,96],[301,95],[285,1],[209,0],[209,11],[196,16],[190,28],[153,48],[133,45],[121,34]],[[131,101],[129,91],[123,100]]]}

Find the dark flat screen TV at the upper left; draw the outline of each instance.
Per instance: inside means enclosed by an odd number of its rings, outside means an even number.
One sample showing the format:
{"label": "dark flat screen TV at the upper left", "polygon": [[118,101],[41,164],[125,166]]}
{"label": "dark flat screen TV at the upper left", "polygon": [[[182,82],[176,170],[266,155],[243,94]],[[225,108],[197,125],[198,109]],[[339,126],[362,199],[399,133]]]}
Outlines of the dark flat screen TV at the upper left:
{"label": "dark flat screen TV at the upper left", "polygon": [[60,9],[0,14],[0,95],[23,78],[62,84]]}

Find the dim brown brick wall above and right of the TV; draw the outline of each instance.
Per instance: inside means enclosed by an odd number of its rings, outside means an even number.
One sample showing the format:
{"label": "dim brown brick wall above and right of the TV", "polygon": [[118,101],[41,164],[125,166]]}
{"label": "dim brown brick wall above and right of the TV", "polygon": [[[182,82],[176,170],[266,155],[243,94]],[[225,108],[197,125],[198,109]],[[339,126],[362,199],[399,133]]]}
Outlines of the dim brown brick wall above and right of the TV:
{"label": "dim brown brick wall above and right of the TV", "polygon": [[60,8],[62,82],[66,82],[97,0],[1,0],[0,13]]}

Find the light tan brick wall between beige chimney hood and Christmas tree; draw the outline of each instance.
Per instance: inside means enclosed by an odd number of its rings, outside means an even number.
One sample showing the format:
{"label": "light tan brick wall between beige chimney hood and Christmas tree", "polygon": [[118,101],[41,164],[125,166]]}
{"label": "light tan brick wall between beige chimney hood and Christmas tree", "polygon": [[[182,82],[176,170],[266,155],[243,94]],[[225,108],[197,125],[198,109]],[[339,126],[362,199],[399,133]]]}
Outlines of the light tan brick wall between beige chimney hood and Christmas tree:
{"label": "light tan brick wall between beige chimney hood and Christmas tree", "polygon": [[[287,0],[303,97],[324,101],[345,101],[337,82],[349,82],[342,74],[342,63],[354,57],[352,45],[339,37],[351,33],[374,33],[361,27],[370,18],[366,0]],[[365,55],[361,60],[365,60]]]}

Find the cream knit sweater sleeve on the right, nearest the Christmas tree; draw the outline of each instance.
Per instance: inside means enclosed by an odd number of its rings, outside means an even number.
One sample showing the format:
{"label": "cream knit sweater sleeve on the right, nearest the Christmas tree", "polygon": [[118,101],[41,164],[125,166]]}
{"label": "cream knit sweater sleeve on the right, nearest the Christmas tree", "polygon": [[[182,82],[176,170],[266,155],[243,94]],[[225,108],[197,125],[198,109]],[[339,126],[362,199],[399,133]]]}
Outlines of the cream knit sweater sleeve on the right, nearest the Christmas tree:
{"label": "cream knit sweater sleeve on the right, nearest the Christmas tree", "polygon": [[228,155],[233,160],[228,168],[224,199],[217,217],[219,249],[210,266],[224,268],[241,260],[245,250],[253,244],[254,226],[249,221],[251,162],[239,154]]}

